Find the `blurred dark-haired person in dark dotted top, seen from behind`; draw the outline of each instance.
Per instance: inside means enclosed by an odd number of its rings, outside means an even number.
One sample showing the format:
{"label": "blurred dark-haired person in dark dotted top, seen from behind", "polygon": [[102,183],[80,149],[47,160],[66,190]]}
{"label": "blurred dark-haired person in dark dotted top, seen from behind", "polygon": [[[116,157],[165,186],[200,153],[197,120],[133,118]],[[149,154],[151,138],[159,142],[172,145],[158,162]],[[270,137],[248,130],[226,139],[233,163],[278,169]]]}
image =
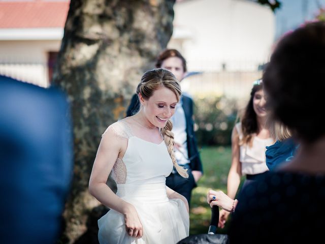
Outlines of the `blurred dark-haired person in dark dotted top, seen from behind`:
{"label": "blurred dark-haired person in dark dotted top, seen from behind", "polygon": [[241,192],[235,243],[317,243],[325,218],[325,22],[285,36],[263,75],[268,106],[293,133],[298,154]]}

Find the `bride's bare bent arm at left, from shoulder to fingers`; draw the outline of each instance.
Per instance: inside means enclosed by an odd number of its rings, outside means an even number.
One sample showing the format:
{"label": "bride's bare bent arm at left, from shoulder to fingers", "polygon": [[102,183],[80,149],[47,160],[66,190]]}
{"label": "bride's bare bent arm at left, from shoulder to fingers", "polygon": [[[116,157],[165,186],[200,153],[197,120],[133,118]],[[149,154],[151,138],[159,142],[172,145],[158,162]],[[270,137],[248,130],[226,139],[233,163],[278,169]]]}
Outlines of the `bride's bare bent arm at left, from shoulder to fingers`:
{"label": "bride's bare bent arm at left, from shoulder to fingers", "polygon": [[[142,236],[142,225],[137,211],[132,204],[118,197],[107,185],[107,178],[115,164],[115,161],[123,148],[125,139],[117,136],[114,131],[108,130],[99,145],[95,161],[93,163],[89,192],[105,206],[120,212],[125,219],[125,226],[129,235]],[[129,230],[132,229],[132,232]]]}

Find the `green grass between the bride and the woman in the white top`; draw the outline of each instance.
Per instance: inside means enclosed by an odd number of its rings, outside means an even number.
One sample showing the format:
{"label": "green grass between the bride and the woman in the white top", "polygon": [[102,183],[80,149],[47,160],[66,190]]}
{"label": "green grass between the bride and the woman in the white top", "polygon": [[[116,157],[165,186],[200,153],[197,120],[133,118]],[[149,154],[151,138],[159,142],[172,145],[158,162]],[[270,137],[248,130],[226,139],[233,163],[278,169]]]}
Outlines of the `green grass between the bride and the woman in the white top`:
{"label": "green grass between the bride and the woman in the white top", "polygon": [[[201,150],[204,175],[198,182],[198,187],[192,192],[190,209],[189,233],[208,233],[211,208],[207,203],[209,189],[217,189],[226,192],[227,176],[231,165],[231,147],[215,146],[204,147]],[[226,233],[229,221],[224,229],[218,229],[218,233]]]}

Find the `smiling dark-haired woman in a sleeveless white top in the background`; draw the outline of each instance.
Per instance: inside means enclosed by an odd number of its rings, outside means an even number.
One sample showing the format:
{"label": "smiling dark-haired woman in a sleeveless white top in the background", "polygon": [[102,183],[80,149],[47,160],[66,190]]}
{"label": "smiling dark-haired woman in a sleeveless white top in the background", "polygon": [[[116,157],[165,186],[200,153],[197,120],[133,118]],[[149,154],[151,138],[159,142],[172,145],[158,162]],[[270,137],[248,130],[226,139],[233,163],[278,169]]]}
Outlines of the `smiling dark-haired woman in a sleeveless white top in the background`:
{"label": "smiling dark-haired woman in a sleeveless white top in the background", "polygon": [[[232,132],[232,164],[228,174],[227,195],[235,199],[242,175],[246,175],[243,187],[268,171],[266,146],[274,143],[266,127],[267,110],[262,80],[253,83],[250,99],[240,123]],[[223,228],[230,212],[220,210],[218,226]]]}

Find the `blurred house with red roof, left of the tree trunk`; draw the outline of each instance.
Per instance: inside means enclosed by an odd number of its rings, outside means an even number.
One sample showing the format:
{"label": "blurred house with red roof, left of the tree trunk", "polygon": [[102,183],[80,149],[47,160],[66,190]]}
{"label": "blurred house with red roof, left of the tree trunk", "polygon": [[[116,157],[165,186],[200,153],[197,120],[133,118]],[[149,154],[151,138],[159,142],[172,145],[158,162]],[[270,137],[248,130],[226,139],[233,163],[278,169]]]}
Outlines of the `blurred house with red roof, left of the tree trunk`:
{"label": "blurred house with red roof, left of the tree trunk", "polygon": [[49,86],[69,4],[0,2],[0,74]]}

